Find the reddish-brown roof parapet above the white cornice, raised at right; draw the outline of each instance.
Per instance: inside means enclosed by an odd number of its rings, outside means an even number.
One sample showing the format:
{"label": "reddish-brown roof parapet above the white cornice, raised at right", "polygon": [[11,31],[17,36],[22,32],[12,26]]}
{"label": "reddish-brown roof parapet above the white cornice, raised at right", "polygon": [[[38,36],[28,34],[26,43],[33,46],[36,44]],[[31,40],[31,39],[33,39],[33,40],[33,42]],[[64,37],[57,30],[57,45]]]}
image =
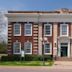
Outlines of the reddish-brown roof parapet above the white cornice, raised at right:
{"label": "reddish-brown roof parapet above the white cornice, raised at right", "polygon": [[71,9],[62,8],[53,11],[8,11],[8,13],[72,13]]}

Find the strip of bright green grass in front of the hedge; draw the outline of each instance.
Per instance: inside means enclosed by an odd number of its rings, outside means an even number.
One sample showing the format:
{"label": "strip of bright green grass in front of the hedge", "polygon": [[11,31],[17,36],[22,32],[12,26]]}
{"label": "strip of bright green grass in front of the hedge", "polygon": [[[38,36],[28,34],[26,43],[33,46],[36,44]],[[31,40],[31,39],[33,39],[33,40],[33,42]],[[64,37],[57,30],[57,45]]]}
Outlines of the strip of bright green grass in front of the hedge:
{"label": "strip of bright green grass in front of the hedge", "polygon": [[53,61],[6,61],[6,62],[0,62],[0,65],[6,65],[6,66],[52,66]]}

